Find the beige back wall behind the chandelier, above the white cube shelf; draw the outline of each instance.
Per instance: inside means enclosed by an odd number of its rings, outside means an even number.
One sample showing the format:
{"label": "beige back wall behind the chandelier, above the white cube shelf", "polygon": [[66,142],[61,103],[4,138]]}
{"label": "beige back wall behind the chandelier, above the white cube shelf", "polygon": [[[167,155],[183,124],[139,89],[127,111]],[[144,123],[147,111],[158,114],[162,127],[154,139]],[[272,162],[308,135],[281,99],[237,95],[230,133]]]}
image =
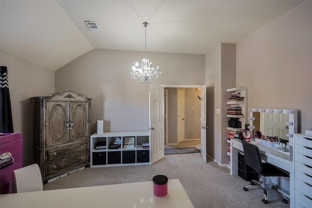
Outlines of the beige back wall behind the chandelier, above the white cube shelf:
{"label": "beige back wall behind the chandelier, above the white cube shelf", "polygon": [[[96,120],[104,120],[104,131],[148,131],[149,92],[135,84],[130,72],[144,52],[93,50],[56,71],[56,91],[72,89],[91,100],[91,133]],[[203,85],[204,55],[148,52],[162,77],[156,84]]]}

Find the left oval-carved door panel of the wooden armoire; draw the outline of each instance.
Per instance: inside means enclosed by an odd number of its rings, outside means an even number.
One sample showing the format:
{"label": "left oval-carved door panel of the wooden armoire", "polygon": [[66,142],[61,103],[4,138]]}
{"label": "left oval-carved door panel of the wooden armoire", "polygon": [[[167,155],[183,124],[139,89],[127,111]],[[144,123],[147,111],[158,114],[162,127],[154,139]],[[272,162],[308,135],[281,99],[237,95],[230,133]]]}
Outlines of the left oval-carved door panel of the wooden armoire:
{"label": "left oval-carved door panel of the wooden armoire", "polygon": [[68,102],[46,102],[46,147],[69,142]]}

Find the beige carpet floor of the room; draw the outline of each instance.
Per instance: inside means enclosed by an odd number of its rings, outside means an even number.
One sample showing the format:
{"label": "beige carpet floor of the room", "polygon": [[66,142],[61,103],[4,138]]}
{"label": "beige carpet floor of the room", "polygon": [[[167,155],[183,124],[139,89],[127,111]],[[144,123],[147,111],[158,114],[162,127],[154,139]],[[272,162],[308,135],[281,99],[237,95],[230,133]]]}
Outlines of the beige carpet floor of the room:
{"label": "beige carpet floor of the room", "polygon": [[195,208],[290,207],[272,192],[269,192],[269,204],[263,204],[261,189],[244,191],[247,181],[231,176],[227,167],[220,167],[210,159],[204,163],[200,153],[165,155],[153,165],[85,168],[44,184],[44,190],[152,181],[158,174],[179,179]]}

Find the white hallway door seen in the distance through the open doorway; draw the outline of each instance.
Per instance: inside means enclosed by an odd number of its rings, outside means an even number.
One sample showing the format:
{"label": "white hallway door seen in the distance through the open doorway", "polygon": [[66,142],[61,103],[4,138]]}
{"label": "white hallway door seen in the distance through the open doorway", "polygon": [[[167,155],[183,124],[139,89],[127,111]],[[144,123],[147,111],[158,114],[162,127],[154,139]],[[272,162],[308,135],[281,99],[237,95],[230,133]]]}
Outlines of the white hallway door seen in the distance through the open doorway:
{"label": "white hallway door seen in the distance through the open doorway", "polygon": [[177,143],[183,142],[185,138],[185,93],[177,90]]}

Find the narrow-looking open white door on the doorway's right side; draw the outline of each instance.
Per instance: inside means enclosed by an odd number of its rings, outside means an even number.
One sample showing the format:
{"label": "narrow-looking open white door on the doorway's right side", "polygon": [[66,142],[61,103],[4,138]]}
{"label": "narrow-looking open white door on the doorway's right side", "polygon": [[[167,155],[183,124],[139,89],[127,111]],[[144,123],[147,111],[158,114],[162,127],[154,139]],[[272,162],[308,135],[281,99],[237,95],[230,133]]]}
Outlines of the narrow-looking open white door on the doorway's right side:
{"label": "narrow-looking open white door on the doorway's right side", "polygon": [[207,155],[206,155],[206,85],[202,86],[200,89],[200,153],[205,163],[207,163]]}

